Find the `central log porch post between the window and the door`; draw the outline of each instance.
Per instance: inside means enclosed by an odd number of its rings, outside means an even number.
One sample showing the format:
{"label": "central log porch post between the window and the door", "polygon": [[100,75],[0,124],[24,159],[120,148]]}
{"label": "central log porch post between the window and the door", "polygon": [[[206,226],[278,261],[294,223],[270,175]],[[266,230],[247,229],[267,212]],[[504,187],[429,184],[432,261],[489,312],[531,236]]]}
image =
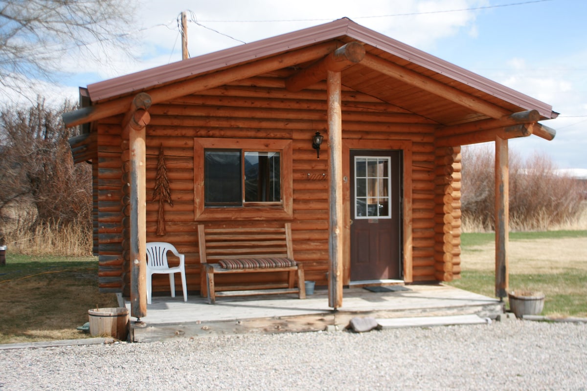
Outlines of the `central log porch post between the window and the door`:
{"label": "central log porch post between the window and the door", "polygon": [[328,180],[329,180],[329,235],[328,235],[328,306],[342,306],[343,268],[343,207],[342,207],[342,98],[340,72],[328,71]]}

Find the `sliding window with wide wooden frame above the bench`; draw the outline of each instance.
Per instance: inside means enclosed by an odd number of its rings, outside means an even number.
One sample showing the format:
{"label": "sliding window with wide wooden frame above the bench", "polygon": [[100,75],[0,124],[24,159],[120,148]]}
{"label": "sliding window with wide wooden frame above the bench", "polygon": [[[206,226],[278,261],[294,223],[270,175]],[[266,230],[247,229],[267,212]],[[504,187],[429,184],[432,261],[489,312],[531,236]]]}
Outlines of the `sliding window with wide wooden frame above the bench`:
{"label": "sliding window with wide wooden frame above the bench", "polygon": [[291,218],[291,150],[291,140],[195,138],[195,219]]}

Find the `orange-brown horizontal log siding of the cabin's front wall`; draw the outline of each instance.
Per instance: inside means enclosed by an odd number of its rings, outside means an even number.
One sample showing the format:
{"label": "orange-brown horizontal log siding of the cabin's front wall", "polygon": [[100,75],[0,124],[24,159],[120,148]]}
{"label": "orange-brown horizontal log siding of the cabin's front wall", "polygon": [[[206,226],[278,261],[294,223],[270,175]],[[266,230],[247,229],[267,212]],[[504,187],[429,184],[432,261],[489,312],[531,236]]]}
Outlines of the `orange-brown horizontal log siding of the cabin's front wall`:
{"label": "orange-brown horizontal log siding of the cabin's front wall", "polygon": [[[317,87],[318,86],[318,87]],[[322,88],[323,89],[319,89]],[[168,241],[185,254],[188,290],[200,290],[200,261],[197,225],[194,222],[194,138],[292,139],[294,220],[292,238],[295,259],[304,263],[306,279],[326,284],[328,272],[328,146],[323,145],[320,159],[311,148],[314,132],[326,133],[326,91],[319,83],[312,90],[288,92],[277,77],[258,77],[225,85],[197,95],[189,95],[163,104],[153,105],[146,129],[147,142],[147,241]],[[343,138],[411,140],[413,143],[413,280],[435,280],[435,241],[437,223],[434,212],[434,139],[433,125],[419,118],[355,91],[343,91]],[[387,112],[383,112],[387,111]],[[118,161],[106,159],[102,176],[108,186],[120,186],[121,116],[104,120],[102,132],[109,140],[108,148],[118,147]],[[157,202],[151,202],[157,155],[163,145],[173,207],[165,204],[166,235],[156,236]],[[104,146],[106,148],[106,146]],[[109,152],[113,153],[113,151]],[[109,155],[110,156],[110,155]],[[110,166],[112,165],[112,166]],[[100,168],[102,169],[102,164]],[[104,177],[104,184],[106,178]],[[106,192],[106,188],[103,189]],[[118,190],[120,193],[120,188]],[[106,197],[104,193],[102,197]],[[110,210],[112,209],[112,210]],[[108,207],[109,223],[121,224],[127,213],[120,202],[118,209]],[[126,224],[126,223],[124,223]],[[237,227],[247,224],[274,225],[275,221],[206,222]],[[116,238],[114,238],[116,236]],[[101,246],[111,246],[119,253],[122,238],[110,234]],[[113,241],[106,243],[106,241]],[[120,267],[119,264],[117,264]],[[167,276],[155,278],[153,290],[168,292]],[[227,275],[218,284],[237,282],[239,276]],[[271,273],[249,276],[255,282],[271,282]],[[282,276],[285,279],[285,275]],[[281,278],[281,277],[280,277]],[[128,282],[128,281],[127,281]],[[180,283],[176,280],[176,283]]]}

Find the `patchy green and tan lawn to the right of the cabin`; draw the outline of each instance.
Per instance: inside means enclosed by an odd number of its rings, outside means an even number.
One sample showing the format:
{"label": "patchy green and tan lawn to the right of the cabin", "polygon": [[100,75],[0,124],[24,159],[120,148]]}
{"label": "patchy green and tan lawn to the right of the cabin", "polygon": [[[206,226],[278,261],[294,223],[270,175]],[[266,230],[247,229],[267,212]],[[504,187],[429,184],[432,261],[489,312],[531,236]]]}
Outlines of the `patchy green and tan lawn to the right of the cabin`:
{"label": "patchy green and tan lawn to the right of the cabin", "polygon": [[[463,234],[461,279],[449,285],[494,297],[494,241]],[[542,314],[587,317],[587,231],[512,232],[508,260],[510,290],[542,291]]]}

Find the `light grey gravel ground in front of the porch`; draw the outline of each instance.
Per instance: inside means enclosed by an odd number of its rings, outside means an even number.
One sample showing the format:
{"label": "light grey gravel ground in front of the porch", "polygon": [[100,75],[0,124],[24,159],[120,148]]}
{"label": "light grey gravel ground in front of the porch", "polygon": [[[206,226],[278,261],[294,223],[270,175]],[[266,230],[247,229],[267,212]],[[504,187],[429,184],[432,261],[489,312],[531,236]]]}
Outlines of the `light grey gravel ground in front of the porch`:
{"label": "light grey gravel ground in front of the porch", "polygon": [[587,324],[174,339],[0,351],[4,390],[587,390]]}

